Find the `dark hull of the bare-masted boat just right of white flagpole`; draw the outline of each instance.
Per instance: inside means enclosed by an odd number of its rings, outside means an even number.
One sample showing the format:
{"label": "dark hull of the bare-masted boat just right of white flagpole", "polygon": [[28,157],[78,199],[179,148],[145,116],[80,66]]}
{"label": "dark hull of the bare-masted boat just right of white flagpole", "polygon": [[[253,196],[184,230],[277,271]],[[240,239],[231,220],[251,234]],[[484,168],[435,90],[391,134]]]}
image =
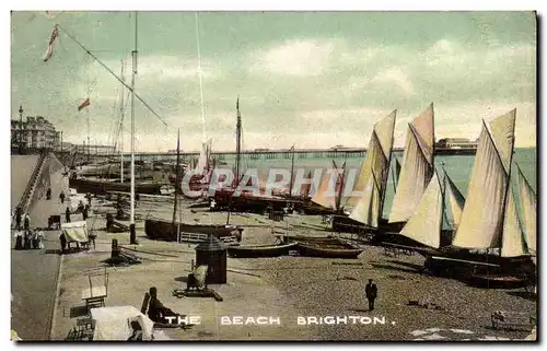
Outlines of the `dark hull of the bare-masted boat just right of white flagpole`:
{"label": "dark hull of the bare-masted boat just right of white flagpole", "polygon": [[178,232],[186,234],[212,234],[219,238],[235,236],[241,241],[243,229],[234,225],[173,223],[166,220],[147,219],[144,233],[151,239],[176,242]]}

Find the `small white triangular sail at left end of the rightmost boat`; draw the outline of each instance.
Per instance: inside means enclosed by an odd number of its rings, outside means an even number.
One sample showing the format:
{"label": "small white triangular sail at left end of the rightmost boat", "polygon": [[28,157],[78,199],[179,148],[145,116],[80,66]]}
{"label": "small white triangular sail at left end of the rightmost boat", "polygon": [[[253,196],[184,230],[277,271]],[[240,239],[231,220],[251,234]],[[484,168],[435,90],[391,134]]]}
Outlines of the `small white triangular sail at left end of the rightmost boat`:
{"label": "small white triangular sail at left end of the rightmost boat", "polygon": [[418,243],[439,248],[441,245],[441,221],[443,196],[437,172],[431,177],[416,211],[400,231],[401,235]]}

